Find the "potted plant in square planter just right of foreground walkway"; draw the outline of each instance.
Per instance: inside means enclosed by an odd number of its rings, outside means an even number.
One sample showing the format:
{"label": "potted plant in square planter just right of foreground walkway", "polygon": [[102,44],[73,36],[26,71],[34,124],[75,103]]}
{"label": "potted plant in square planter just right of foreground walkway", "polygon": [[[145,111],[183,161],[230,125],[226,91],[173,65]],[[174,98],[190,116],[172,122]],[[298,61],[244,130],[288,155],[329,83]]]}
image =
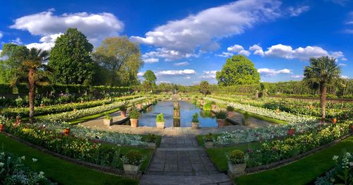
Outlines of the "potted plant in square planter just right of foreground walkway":
{"label": "potted plant in square planter just right of foreground walkway", "polygon": [[234,175],[241,175],[245,173],[246,155],[241,150],[232,150],[226,154],[228,160],[229,171]]}

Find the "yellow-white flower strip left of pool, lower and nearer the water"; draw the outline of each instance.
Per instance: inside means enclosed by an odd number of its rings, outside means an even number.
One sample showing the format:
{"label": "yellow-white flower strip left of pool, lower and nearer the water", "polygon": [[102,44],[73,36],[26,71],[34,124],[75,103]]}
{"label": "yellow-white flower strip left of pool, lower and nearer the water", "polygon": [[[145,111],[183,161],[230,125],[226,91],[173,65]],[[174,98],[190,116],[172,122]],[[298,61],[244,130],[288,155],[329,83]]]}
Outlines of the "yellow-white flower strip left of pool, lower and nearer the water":
{"label": "yellow-white flower strip left of pool, lower and nearer the water", "polygon": [[[146,97],[139,97],[133,100],[130,100],[131,103],[133,102],[139,102],[141,100],[145,100]],[[123,105],[124,102],[114,102],[109,105],[102,105],[99,107],[92,107],[89,109],[79,109],[79,110],[73,110],[71,112],[62,112],[59,114],[49,114],[45,117],[42,117],[41,119],[48,120],[48,121],[69,121],[71,119],[77,119],[80,117],[86,117],[92,114],[98,114],[101,112],[106,112],[110,109],[115,109],[118,108],[119,106]]]}

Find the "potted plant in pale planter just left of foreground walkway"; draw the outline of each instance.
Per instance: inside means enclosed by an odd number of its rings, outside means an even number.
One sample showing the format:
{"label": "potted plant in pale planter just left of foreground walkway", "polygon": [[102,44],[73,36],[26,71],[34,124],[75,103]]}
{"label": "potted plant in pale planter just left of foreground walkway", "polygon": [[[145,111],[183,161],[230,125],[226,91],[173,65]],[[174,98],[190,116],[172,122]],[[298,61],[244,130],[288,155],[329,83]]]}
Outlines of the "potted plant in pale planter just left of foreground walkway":
{"label": "potted plant in pale planter just left of foreground walkway", "polygon": [[121,157],[121,160],[124,163],[125,174],[138,174],[145,157],[138,150],[130,150]]}

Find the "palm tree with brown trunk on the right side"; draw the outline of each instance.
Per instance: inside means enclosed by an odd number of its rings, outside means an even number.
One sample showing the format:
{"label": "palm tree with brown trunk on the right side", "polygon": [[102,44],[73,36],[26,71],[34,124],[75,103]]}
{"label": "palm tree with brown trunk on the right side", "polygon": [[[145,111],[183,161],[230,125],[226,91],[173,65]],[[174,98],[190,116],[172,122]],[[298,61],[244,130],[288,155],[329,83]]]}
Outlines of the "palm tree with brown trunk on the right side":
{"label": "palm tree with brown trunk on the right side", "polygon": [[336,59],[328,56],[311,58],[310,66],[304,69],[304,82],[311,88],[320,90],[321,118],[326,117],[326,90],[327,85],[333,85],[340,79],[341,69]]}

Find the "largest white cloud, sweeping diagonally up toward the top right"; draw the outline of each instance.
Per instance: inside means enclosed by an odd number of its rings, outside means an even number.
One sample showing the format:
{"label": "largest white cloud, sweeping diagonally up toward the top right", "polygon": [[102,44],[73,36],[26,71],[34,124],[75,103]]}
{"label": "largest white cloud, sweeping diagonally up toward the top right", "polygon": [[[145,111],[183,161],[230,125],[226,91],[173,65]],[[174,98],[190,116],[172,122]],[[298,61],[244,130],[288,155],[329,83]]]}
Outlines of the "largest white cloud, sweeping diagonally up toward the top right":
{"label": "largest white cloud, sweeping diagonally up toward the top right", "polygon": [[181,20],[171,20],[145,33],[145,37],[132,36],[131,40],[159,47],[165,54],[160,57],[181,59],[193,56],[197,49],[218,49],[220,46],[216,40],[219,38],[239,35],[258,23],[279,18],[280,5],[280,1],[270,0],[235,1]]}

